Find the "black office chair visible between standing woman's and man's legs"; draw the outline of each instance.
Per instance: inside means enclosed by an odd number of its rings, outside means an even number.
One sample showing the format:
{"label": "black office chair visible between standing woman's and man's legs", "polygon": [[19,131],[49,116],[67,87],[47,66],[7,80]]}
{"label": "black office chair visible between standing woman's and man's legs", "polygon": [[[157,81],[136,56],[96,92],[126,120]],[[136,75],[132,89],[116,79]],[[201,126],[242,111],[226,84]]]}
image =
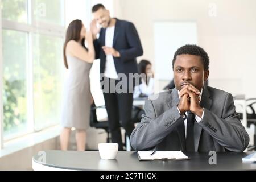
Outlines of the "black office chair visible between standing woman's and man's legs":
{"label": "black office chair visible between standing woman's and man's legs", "polygon": [[110,131],[109,131],[109,123],[107,121],[98,121],[96,110],[97,109],[105,109],[105,106],[97,106],[94,104],[91,105],[90,109],[90,127],[95,127],[96,129],[104,129],[107,133],[106,142],[110,142]]}

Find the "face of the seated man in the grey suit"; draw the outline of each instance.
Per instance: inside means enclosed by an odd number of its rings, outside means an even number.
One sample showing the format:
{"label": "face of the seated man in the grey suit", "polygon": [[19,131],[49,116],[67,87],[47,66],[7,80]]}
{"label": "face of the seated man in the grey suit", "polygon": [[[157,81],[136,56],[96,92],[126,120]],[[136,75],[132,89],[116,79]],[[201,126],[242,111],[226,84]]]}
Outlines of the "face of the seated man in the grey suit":
{"label": "face of the seated man in the grey suit", "polygon": [[177,55],[174,63],[174,83],[177,90],[191,84],[201,91],[208,76],[209,70],[204,70],[200,56]]}

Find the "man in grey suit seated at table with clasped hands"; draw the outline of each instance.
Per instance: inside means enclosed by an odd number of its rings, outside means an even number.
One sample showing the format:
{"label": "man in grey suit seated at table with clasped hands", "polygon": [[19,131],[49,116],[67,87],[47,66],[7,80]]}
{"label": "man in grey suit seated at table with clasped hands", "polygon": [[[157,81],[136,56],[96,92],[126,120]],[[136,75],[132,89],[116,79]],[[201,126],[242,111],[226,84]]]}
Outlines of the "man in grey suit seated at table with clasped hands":
{"label": "man in grey suit seated at table with clasped hands", "polygon": [[136,151],[245,150],[249,135],[236,113],[232,94],[204,86],[209,57],[203,48],[185,45],[172,60],[175,88],[151,96],[130,137]]}

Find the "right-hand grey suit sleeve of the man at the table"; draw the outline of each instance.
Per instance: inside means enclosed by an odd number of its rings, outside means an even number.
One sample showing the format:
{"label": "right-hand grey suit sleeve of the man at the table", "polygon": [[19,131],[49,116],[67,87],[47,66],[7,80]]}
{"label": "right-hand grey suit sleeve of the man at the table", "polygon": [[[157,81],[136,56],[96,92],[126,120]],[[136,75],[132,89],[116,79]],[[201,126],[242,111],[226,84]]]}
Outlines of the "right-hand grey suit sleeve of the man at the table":
{"label": "right-hand grey suit sleeve of the man at the table", "polygon": [[249,144],[249,135],[236,113],[233,97],[227,94],[222,117],[218,117],[208,109],[204,109],[204,117],[197,123],[209,133],[217,142],[229,151],[239,152],[245,150]]}

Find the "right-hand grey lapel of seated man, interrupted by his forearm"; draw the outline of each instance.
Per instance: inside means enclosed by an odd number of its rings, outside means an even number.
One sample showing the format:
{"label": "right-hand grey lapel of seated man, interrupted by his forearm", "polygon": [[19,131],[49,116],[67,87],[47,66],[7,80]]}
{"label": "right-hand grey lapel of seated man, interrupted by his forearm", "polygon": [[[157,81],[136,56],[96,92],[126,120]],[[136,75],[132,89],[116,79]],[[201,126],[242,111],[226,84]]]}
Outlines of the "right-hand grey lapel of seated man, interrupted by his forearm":
{"label": "right-hand grey lapel of seated man, interrupted by his forearm", "polygon": [[[208,92],[207,86],[204,86],[200,106],[209,110],[211,105],[212,105],[212,99],[210,98],[210,94]],[[201,131],[202,131],[202,127],[200,125],[194,125],[194,144],[195,144],[196,152],[198,151],[198,147],[199,147]]]}

